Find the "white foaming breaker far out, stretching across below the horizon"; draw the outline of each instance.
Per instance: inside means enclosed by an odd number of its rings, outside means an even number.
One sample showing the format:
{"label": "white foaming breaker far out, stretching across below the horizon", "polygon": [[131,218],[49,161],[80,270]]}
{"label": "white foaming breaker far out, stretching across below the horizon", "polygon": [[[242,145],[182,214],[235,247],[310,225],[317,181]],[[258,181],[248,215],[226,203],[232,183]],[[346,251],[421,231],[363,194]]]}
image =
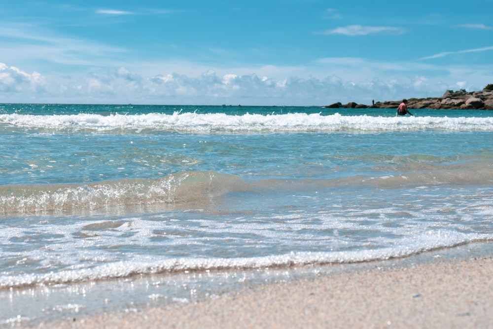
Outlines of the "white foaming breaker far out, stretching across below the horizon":
{"label": "white foaming breaker far out, stretching across below the horizon", "polygon": [[98,132],[159,131],[182,133],[380,132],[411,130],[493,131],[492,117],[384,117],[339,113],[243,114],[179,113],[24,115],[1,114],[0,123],[16,127]]}

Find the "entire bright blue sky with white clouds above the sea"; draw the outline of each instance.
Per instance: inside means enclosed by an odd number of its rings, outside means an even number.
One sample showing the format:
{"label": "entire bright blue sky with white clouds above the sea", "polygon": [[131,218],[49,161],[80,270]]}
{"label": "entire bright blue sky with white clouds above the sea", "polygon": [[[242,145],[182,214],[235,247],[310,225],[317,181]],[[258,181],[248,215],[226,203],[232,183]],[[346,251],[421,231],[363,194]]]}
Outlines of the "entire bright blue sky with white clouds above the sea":
{"label": "entire bright blue sky with white clouds above the sea", "polygon": [[0,2],[0,103],[323,106],[493,83],[492,0]]}

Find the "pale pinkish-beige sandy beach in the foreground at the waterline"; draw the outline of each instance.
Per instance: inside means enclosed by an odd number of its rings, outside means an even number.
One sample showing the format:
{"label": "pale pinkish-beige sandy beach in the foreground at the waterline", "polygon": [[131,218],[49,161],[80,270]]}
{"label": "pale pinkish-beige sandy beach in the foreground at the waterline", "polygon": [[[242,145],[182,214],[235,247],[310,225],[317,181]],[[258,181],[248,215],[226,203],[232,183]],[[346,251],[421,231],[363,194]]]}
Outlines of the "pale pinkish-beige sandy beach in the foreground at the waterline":
{"label": "pale pinkish-beige sandy beach in the foreground at the waterline", "polygon": [[492,309],[488,256],[374,266],[39,328],[493,328]]}

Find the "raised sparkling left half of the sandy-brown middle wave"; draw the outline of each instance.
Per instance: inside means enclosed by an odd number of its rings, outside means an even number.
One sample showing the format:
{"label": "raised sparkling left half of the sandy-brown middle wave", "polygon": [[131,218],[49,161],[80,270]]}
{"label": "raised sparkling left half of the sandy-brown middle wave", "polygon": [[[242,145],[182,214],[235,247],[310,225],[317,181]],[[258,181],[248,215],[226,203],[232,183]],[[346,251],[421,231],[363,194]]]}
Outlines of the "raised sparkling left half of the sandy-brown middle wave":
{"label": "raised sparkling left half of the sandy-brown middle wave", "polygon": [[114,205],[205,201],[242,188],[240,178],[212,171],[183,172],[158,180],[90,184],[0,186],[0,213],[94,210]]}

